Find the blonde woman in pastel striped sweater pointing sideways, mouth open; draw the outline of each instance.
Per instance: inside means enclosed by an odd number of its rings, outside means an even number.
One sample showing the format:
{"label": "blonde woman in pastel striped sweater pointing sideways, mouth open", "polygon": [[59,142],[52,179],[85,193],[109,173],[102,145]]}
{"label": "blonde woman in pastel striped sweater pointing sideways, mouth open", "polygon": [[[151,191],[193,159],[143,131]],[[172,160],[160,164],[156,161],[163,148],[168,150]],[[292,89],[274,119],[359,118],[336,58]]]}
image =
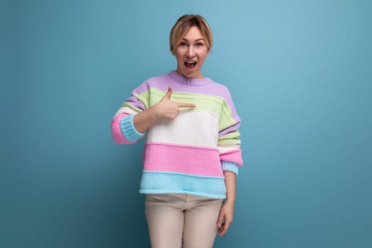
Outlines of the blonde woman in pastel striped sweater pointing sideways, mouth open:
{"label": "blonde woman in pastel striped sweater pointing sideways, mouth open", "polygon": [[181,16],[169,43],[176,70],[132,92],[111,122],[113,140],[146,135],[140,193],[152,247],[213,247],[234,214],[240,119],[228,89],[201,72],[213,45],[205,19]]}

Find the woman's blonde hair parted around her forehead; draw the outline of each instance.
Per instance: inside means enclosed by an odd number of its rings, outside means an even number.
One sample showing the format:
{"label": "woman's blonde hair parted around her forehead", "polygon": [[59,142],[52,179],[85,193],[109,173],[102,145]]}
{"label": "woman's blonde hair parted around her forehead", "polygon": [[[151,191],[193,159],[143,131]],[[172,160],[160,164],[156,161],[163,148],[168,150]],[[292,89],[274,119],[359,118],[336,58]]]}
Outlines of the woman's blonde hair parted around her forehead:
{"label": "woman's blonde hair parted around her forehead", "polygon": [[179,40],[181,40],[182,36],[193,26],[196,26],[199,28],[199,30],[201,30],[201,34],[205,40],[205,45],[208,47],[208,51],[210,48],[212,48],[213,35],[209,24],[202,16],[191,14],[181,16],[176,21],[173,28],[171,28],[171,33],[169,34],[169,48],[172,53],[176,51],[177,43],[179,43]]}

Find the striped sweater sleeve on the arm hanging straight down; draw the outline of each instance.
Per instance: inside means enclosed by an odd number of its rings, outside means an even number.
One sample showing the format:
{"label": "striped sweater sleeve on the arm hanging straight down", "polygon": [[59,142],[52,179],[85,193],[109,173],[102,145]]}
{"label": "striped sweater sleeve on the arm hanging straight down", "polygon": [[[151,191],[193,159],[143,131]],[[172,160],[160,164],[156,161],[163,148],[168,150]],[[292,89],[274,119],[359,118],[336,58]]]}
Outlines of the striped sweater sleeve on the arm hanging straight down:
{"label": "striped sweater sleeve on the arm hanging straight down", "polygon": [[220,117],[220,133],[218,137],[218,150],[224,171],[238,174],[239,167],[243,165],[242,150],[240,149],[240,118],[237,115],[230,92],[227,90],[225,106],[222,106]]}

